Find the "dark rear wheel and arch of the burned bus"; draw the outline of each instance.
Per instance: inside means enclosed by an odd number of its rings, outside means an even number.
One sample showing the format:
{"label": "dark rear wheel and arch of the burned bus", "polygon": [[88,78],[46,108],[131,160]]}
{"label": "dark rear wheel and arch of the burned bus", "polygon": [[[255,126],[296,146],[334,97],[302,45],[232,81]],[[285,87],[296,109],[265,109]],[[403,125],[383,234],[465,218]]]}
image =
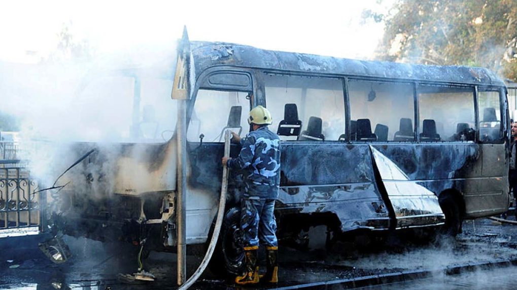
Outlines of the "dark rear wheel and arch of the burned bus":
{"label": "dark rear wheel and arch of the burned bus", "polygon": [[445,215],[445,225],[442,233],[455,237],[462,232],[465,217],[465,201],[460,191],[446,189],[438,195],[438,203]]}

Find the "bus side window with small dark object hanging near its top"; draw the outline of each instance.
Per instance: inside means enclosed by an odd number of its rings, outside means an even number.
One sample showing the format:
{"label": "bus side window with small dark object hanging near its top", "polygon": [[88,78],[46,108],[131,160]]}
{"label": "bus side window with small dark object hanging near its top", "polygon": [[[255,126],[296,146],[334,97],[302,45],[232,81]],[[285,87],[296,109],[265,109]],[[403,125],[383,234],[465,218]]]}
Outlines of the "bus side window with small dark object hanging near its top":
{"label": "bus side window with small dark object hanging near its top", "polygon": [[413,141],[413,85],[348,80],[352,141]]}

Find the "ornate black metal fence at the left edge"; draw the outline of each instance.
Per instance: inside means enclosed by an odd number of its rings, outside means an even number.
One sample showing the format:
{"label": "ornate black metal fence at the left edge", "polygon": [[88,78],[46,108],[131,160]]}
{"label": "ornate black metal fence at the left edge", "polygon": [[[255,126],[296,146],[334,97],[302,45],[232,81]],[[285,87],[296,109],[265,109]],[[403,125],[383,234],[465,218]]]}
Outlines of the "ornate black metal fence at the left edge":
{"label": "ornate black metal fence at the left edge", "polygon": [[8,236],[27,234],[24,229],[37,233],[41,224],[37,183],[18,159],[18,150],[14,142],[0,142],[0,234]]}

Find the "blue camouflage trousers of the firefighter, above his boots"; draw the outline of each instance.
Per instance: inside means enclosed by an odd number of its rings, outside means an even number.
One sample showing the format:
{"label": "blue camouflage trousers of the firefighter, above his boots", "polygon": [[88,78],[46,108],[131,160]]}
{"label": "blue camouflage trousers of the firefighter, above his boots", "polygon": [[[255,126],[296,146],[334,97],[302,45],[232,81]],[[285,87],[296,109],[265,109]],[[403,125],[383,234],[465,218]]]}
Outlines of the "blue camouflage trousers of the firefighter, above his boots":
{"label": "blue camouflage trousers of the firefighter, above his boots", "polygon": [[240,229],[244,247],[258,247],[258,243],[278,247],[277,222],[273,215],[274,199],[241,199]]}

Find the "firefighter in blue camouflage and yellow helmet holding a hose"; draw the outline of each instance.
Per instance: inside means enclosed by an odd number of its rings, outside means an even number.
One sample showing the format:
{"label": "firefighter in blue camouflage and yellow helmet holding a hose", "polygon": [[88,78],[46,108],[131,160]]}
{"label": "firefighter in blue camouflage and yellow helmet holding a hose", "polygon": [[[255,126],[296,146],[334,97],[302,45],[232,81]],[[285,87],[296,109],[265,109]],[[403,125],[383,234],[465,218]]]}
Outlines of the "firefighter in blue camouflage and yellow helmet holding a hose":
{"label": "firefighter in blue camouflage and yellow helmet holding a hose", "polygon": [[222,158],[230,169],[244,170],[245,190],[241,199],[240,229],[244,241],[245,270],[235,278],[237,284],[258,283],[257,250],[260,243],[266,247],[266,273],[262,281],[278,282],[277,223],[273,210],[280,185],[280,138],[269,131],[272,118],[263,106],[250,111],[248,123],[252,131],[241,139],[232,132],[232,141],[240,142],[242,149],[237,158]]}

